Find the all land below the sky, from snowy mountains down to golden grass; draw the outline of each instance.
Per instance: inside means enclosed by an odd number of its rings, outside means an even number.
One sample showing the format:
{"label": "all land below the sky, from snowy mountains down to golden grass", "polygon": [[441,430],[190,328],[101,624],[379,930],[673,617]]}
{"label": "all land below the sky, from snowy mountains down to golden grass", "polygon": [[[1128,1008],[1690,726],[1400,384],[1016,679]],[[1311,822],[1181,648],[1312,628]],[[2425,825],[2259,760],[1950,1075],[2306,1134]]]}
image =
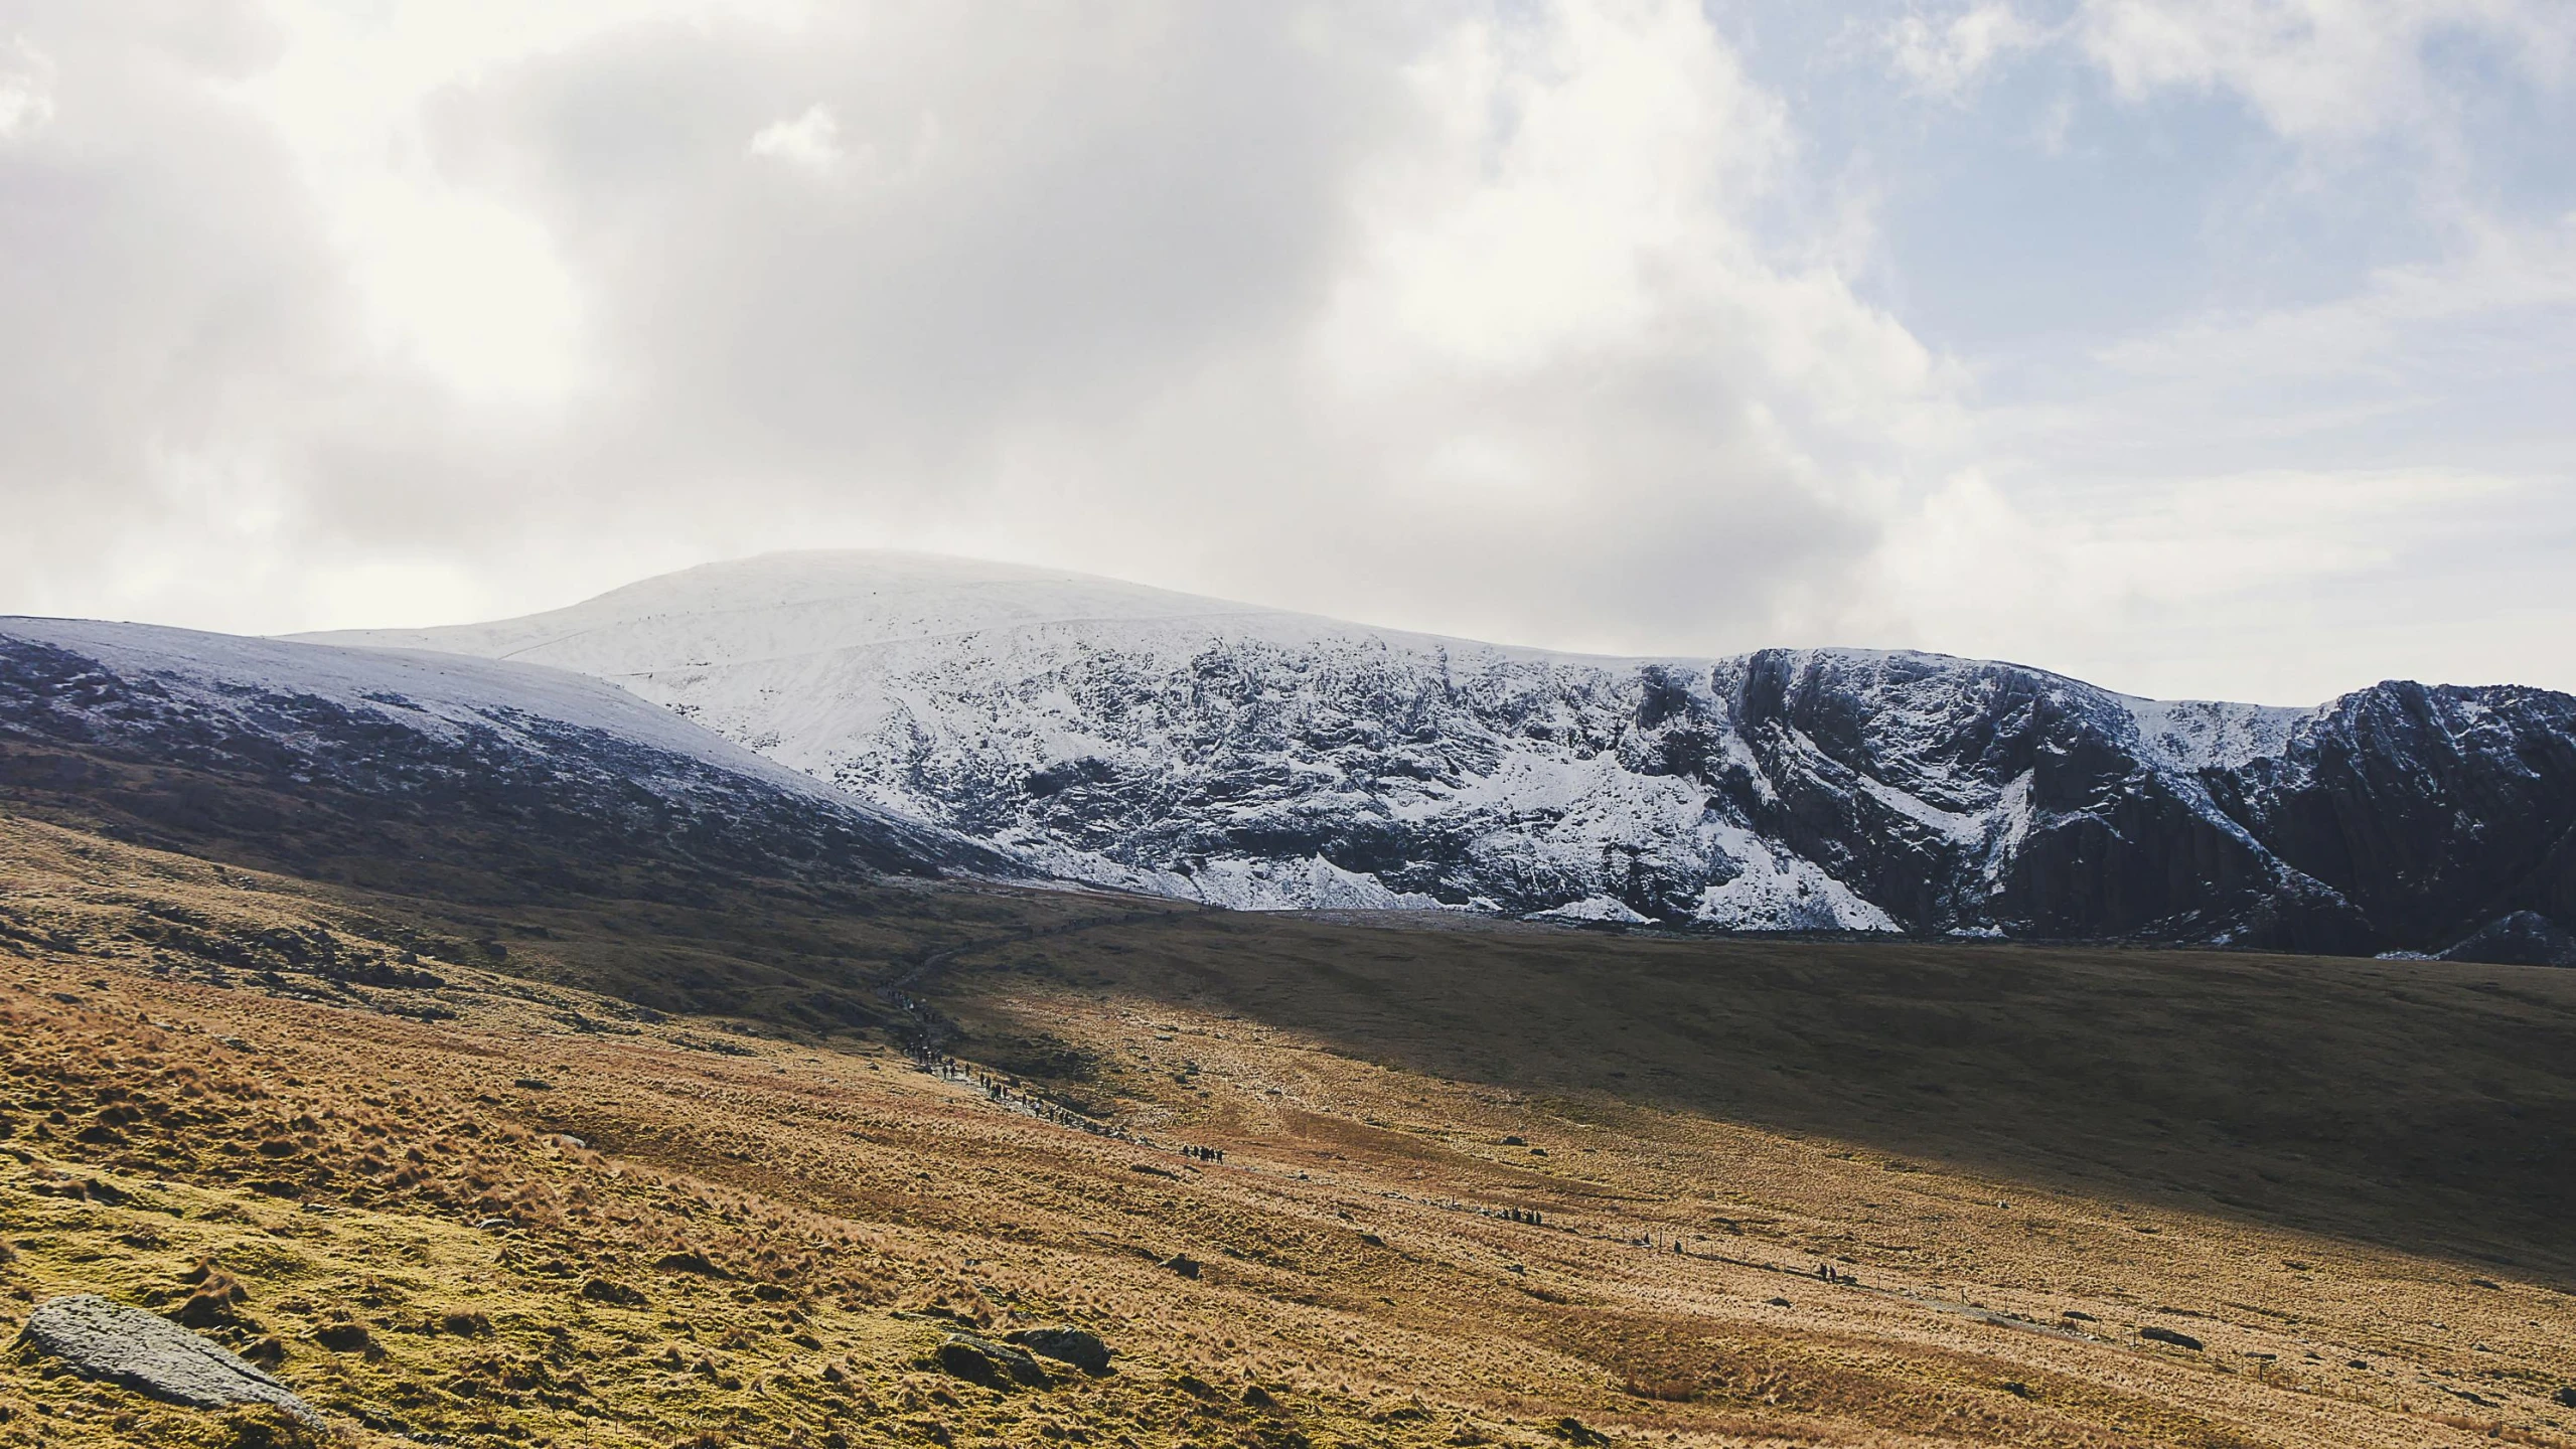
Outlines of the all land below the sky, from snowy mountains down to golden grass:
{"label": "all land below the sky, from snowy mountains down to golden grass", "polygon": [[778,569],[0,628],[0,1446],[2576,1444],[2563,695]]}

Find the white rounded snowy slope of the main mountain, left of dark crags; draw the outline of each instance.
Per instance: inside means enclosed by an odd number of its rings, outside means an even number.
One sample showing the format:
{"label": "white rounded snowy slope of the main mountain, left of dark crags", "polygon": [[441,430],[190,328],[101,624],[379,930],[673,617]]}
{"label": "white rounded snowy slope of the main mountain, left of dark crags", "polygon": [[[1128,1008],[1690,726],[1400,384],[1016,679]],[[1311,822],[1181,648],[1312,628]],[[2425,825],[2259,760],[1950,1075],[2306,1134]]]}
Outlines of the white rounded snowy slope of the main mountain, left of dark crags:
{"label": "white rounded snowy slope of the main mountain, left of dark crags", "polygon": [[[1703,788],[1605,754],[1633,713],[1631,661],[907,553],[770,556],[526,620],[317,638],[600,674],[1097,883],[1226,906],[1607,914],[1605,857],[1643,852],[1690,862],[1713,893],[1698,919],[1891,927],[1710,818]],[[1394,860],[1406,842],[1466,860]]]}

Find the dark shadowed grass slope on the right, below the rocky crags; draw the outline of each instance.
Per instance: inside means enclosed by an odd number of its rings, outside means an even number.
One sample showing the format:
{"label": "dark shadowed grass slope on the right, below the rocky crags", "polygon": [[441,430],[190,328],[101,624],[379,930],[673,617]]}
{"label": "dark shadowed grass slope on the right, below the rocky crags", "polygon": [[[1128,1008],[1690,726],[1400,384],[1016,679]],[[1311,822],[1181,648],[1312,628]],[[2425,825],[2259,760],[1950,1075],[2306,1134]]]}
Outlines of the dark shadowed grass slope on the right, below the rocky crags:
{"label": "dark shadowed grass slope on the right, below the rocky crags", "polygon": [[2576,1274],[2555,968],[1190,914],[951,970],[987,1032],[1046,1035],[1018,1006],[1046,978],[1455,1081]]}

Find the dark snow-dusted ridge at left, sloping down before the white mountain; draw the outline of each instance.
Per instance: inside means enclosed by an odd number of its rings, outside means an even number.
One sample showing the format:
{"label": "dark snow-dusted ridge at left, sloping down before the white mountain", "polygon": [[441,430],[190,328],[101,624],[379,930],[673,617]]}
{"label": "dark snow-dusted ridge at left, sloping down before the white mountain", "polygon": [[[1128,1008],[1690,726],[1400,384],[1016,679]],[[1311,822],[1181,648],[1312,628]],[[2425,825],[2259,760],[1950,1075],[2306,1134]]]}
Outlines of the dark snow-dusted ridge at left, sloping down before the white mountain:
{"label": "dark snow-dusted ridge at left, sloping down before the white mountain", "polygon": [[8,744],[273,782],[289,798],[332,790],[371,818],[549,834],[590,857],[1025,875],[626,690],[536,664],[0,618]]}

